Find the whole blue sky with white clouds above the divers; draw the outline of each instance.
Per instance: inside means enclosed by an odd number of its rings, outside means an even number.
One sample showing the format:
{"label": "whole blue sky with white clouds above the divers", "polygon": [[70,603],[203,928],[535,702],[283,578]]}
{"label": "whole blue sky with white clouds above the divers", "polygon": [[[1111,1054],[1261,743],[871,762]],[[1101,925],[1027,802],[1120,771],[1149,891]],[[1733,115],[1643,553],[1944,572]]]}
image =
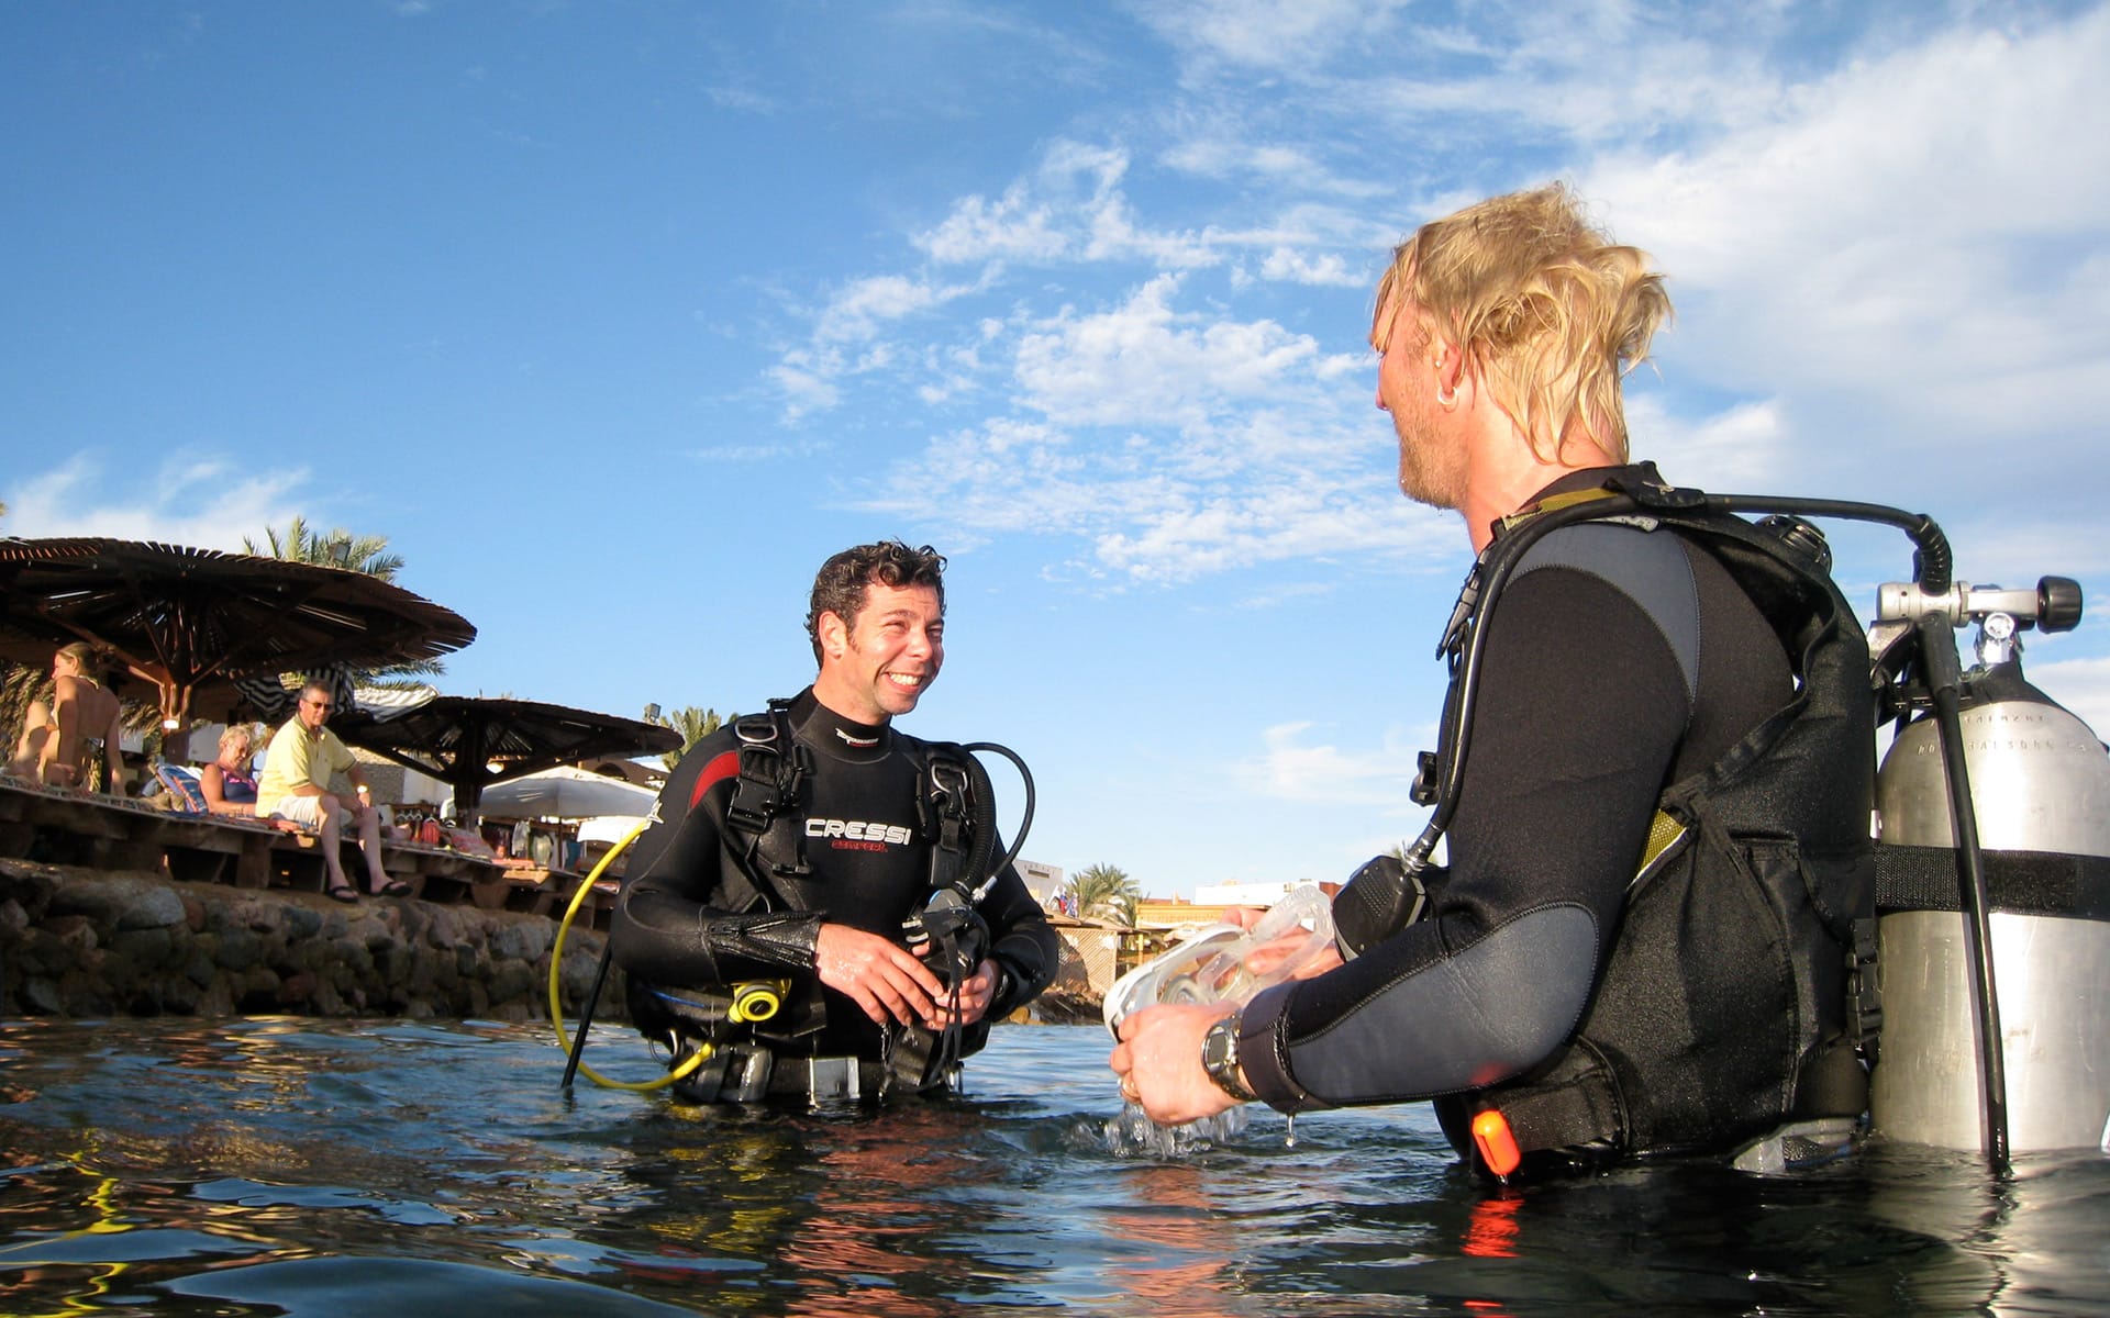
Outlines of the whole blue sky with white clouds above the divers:
{"label": "whole blue sky with white clouds above the divers", "polygon": [[[2078,4],[8,4],[0,531],[382,534],[445,692],[622,715],[791,694],[819,561],[933,542],[903,728],[1025,755],[1032,858],[1344,877],[1469,563],[1393,243],[1570,179],[1677,302],[1637,456],[2093,599],[2104,70]],[[2110,614],[2032,641],[2110,730]]]}

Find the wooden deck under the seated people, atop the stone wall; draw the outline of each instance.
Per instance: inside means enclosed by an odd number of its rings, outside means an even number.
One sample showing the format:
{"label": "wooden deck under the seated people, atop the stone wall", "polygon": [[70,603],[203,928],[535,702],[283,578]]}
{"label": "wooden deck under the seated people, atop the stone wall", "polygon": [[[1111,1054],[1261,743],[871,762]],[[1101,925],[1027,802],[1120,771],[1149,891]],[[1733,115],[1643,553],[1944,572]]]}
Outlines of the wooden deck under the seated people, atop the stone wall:
{"label": "wooden deck under the seated people, atop the stone wall", "polygon": [[[357,839],[344,848],[344,873],[365,877]],[[162,871],[169,877],[234,888],[321,892],[321,839],[287,833],[268,820],[224,814],[175,814],[143,801],[40,787],[0,776],[0,856]],[[584,875],[565,869],[502,867],[487,858],[414,841],[384,841],[382,869],[411,886],[418,900],[525,911],[561,919]],[[616,884],[595,884],[591,926],[608,928]],[[587,919],[587,909],[580,919]]]}

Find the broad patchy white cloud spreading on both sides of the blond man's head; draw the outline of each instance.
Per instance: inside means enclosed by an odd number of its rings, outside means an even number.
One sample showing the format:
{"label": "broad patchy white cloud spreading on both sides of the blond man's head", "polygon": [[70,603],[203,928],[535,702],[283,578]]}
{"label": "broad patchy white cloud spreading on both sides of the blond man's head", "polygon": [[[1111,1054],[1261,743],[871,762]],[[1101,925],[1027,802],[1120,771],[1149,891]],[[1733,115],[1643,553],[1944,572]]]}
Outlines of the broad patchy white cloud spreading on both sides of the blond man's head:
{"label": "broad patchy white cloud spreading on both sides of the blond man's head", "polygon": [[[1372,477],[1369,363],[1331,350],[1361,325],[1306,331],[1296,312],[1334,297],[1293,299],[1369,285],[1418,217],[1564,160],[1671,274],[1684,321],[1629,418],[1635,453],[1682,483],[1808,489],[1812,468],[1863,462],[1861,489],[1829,493],[1912,502],[1924,485],[1899,479],[1901,432],[1935,470],[2015,430],[2085,434],[2110,407],[2110,114],[2091,93],[2110,11],[1933,38],[1912,13],[1834,17],[1846,40],[1829,46],[1766,4],[1492,4],[1473,32],[1428,27],[1422,8],[1342,13],[1146,6],[1192,76],[1177,103],[1125,120],[1133,154],[1055,135],[1000,194],[909,238],[933,266],[981,264],[971,291],[1002,289],[1002,314],[968,304],[971,325],[947,306],[966,285],[855,280],[827,333],[893,325],[903,342],[850,361],[817,335],[787,354],[791,415],[836,405],[850,371],[909,375],[901,396],[956,411],[1002,399],[1009,415],[933,439],[880,504],[1082,538],[1080,569],[1110,580],[1342,544],[1418,553],[1422,515]],[[1420,42],[1390,65],[1323,59],[1340,32]],[[1428,162],[1384,181],[1399,167],[1372,143],[1433,122]],[[1488,169],[1507,177],[1473,177]]]}

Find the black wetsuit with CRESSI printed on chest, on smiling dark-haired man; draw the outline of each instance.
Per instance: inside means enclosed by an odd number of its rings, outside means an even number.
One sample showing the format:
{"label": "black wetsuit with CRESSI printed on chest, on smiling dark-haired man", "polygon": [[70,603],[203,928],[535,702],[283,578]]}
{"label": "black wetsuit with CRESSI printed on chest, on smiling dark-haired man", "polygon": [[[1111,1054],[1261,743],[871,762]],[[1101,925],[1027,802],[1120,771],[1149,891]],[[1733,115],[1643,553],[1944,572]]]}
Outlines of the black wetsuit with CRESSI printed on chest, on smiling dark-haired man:
{"label": "black wetsuit with CRESSI printed on chest, on smiling dark-haired man", "polygon": [[[637,844],[633,877],[616,909],[614,957],[639,985],[679,993],[745,978],[795,976],[819,991],[825,1023],[795,1040],[772,1040],[785,1057],[886,1057],[882,1029],[846,995],[823,989],[812,972],[821,922],[903,941],[901,922],[931,896],[933,844],[918,822],[918,789],[931,744],[893,730],[852,723],[808,687],[791,702],[789,723],[810,749],[812,776],[795,803],[804,877],[772,875],[755,900],[749,875],[728,846],[726,808],[738,774],[738,738],[722,728],[696,742],[660,793],[660,818]],[[994,854],[1002,854],[998,841]],[[766,938],[726,936],[741,915],[804,911]],[[990,926],[990,960],[1002,970],[985,1021],[1023,1006],[1057,966],[1057,938],[1017,871],[1006,871],[979,905]],[[713,936],[713,926],[715,936]],[[793,1027],[787,1016],[776,1023]],[[985,1038],[968,1031],[968,1050]]]}

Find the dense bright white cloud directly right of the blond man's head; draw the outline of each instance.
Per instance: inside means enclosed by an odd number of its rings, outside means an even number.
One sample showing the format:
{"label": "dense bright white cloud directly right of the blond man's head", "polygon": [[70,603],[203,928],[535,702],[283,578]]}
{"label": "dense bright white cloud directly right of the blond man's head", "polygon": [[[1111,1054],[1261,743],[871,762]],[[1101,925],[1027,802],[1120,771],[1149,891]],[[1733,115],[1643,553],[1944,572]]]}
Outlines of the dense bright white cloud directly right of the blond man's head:
{"label": "dense bright white cloud directly right of the blond man's head", "polygon": [[[1981,27],[1760,97],[1770,114],[1582,175],[1648,247],[1718,382],[1880,407],[1926,445],[2110,407],[2110,8]],[[1815,437],[1812,437],[1815,441]]]}

